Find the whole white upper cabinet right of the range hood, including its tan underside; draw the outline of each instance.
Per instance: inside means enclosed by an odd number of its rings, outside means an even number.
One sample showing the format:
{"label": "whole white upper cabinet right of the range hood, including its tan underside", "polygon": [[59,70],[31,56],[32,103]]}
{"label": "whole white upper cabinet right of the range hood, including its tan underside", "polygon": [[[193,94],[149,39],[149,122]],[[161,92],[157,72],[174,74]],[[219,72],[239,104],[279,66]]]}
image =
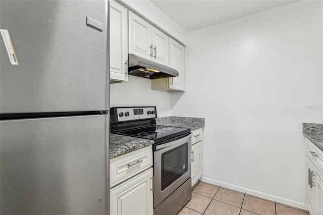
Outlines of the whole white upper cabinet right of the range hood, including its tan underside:
{"label": "whole white upper cabinet right of the range hood, including its tan underside", "polygon": [[169,38],[169,67],[179,72],[178,77],[151,80],[151,89],[163,91],[185,91],[185,47]]}

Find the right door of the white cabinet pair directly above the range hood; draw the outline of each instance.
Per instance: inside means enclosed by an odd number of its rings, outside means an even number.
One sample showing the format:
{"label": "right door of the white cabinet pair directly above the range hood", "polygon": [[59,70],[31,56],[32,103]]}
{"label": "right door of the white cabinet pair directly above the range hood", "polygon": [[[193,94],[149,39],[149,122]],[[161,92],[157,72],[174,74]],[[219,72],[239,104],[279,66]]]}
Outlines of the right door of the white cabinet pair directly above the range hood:
{"label": "right door of the white cabinet pair directly above the range hood", "polygon": [[169,66],[169,36],[152,28],[153,60],[159,64]]}

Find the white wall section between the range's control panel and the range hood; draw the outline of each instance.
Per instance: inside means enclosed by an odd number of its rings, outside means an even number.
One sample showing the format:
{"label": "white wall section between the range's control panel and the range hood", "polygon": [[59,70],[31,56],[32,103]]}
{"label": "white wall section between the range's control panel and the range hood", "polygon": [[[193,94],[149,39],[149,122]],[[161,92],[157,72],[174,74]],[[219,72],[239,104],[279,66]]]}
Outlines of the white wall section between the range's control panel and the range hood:
{"label": "white wall section between the range's control panel and the range hood", "polygon": [[170,93],[151,90],[151,80],[129,75],[129,81],[110,84],[110,106],[156,106],[157,117],[168,117]]}

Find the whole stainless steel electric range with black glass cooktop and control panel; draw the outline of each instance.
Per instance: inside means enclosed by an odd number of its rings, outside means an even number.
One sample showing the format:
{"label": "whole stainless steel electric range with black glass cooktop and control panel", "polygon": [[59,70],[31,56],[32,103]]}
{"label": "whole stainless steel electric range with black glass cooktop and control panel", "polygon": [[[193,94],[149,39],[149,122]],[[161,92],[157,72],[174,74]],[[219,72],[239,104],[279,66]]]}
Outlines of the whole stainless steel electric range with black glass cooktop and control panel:
{"label": "whole stainless steel electric range with black glass cooktop and control panel", "polygon": [[191,199],[191,129],[156,125],[155,106],[111,108],[111,133],[154,140],[154,215]]}

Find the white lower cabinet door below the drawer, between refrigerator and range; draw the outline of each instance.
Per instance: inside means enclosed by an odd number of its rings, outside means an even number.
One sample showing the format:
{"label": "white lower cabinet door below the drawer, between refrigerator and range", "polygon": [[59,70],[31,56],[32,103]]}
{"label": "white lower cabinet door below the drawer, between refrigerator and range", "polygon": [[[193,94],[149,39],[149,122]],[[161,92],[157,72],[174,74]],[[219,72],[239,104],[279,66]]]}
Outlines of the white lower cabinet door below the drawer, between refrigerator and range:
{"label": "white lower cabinet door below the drawer, between refrigerator and range", "polygon": [[111,189],[111,215],[153,214],[152,168]]}

